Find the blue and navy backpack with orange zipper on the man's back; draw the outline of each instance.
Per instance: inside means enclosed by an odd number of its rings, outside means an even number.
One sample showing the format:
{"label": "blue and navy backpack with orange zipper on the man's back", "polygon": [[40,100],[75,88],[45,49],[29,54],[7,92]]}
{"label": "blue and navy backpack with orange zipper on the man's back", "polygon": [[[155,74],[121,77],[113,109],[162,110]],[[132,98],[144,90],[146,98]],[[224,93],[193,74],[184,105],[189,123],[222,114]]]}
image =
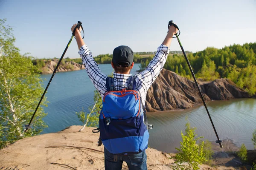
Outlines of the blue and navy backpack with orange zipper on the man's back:
{"label": "blue and navy backpack with orange zipper on the man's back", "polygon": [[99,145],[113,154],[136,154],[148,147],[148,125],[145,107],[140,94],[135,91],[134,77],[129,77],[128,87],[116,91],[114,79],[107,77],[107,92],[102,99],[99,115]]}

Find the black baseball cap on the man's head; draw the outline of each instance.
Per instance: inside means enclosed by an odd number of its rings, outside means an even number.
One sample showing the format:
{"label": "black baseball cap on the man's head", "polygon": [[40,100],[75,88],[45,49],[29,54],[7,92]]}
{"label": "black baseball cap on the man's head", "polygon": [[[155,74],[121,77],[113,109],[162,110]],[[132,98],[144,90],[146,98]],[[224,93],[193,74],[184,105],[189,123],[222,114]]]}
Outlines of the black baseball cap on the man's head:
{"label": "black baseball cap on the man's head", "polygon": [[120,63],[126,63],[128,66],[131,66],[133,58],[134,56],[131,48],[125,45],[120,45],[113,51],[112,62],[115,66],[119,66]]}

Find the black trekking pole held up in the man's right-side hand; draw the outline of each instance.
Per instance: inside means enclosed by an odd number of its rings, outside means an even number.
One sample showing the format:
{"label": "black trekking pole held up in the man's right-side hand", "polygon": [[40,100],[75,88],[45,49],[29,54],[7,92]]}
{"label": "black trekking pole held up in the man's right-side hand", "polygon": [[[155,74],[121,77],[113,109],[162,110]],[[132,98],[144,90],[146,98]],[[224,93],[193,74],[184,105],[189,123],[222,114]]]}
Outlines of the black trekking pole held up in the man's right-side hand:
{"label": "black trekking pole held up in the man's right-side hand", "polygon": [[208,114],[208,116],[209,116],[209,119],[210,119],[210,121],[211,121],[211,123],[212,123],[213,130],[214,130],[215,135],[216,135],[216,137],[217,137],[217,139],[218,139],[218,140],[216,140],[215,142],[218,143],[218,144],[220,145],[220,147],[222,148],[223,146],[222,146],[221,142],[223,142],[223,140],[219,139],[219,137],[218,137],[218,133],[217,133],[217,131],[216,131],[214,125],[213,125],[212,118],[211,118],[211,116],[210,116],[210,113],[209,113],[209,111],[208,111],[208,109],[207,109],[207,106],[206,106],[206,103],[205,103],[205,101],[204,101],[204,96],[203,96],[202,93],[201,93],[201,90],[200,90],[200,88],[199,88],[199,86],[198,86],[198,82],[196,81],[196,78],[195,78],[195,74],[194,74],[194,72],[193,72],[193,70],[192,70],[192,67],[191,67],[190,63],[189,63],[189,59],[188,59],[188,57],[186,56],[186,53],[185,53],[185,51],[184,51],[184,49],[183,49],[183,46],[181,45],[180,39],[179,39],[179,37],[178,37],[178,36],[180,35],[180,29],[178,28],[178,26],[177,26],[175,23],[173,23],[172,20],[169,21],[167,33],[169,32],[169,27],[172,26],[172,25],[173,25],[175,28],[177,28],[177,29],[179,30],[179,34],[175,34],[176,37],[173,37],[173,38],[177,38],[177,40],[178,40],[178,42],[179,42],[179,44],[180,44],[181,51],[183,52],[183,55],[184,55],[184,57],[185,57],[185,59],[186,59],[186,62],[187,62],[187,64],[188,64],[188,66],[189,66],[189,70],[190,70],[190,72],[191,72],[191,74],[192,74],[192,77],[193,77],[194,80],[195,80],[195,84],[196,84],[196,86],[197,86],[197,88],[198,88],[199,94],[200,94],[201,99],[203,100],[203,103],[204,103],[204,107],[205,107],[205,109],[206,109],[206,111],[207,111],[207,114]]}

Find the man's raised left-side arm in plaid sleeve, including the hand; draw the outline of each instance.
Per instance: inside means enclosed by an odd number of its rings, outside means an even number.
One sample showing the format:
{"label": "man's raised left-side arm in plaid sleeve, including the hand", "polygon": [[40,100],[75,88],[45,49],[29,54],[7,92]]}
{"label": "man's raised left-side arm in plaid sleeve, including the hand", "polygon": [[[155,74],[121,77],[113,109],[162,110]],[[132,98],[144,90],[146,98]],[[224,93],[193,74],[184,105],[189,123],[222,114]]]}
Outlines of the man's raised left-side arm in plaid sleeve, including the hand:
{"label": "man's raised left-side arm in plaid sleeve, including the hand", "polygon": [[[76,25],[73,25],[71,31],[73,32]],[[104,95],[105,91],[102,91],[102,87],[105,85],[105,80],[107,76],[102,73],[99,69],[99,66],[94,61],[91,51],[88,49],[87,45],[85,45],[84,40],[81,37],[81,28],[80,30],[75,30],[76,42],[79,48],[79,54],[82,58],[82,62],[84,64],[85,70],[93,82],[94,87],[99,91],[101,95]]]}

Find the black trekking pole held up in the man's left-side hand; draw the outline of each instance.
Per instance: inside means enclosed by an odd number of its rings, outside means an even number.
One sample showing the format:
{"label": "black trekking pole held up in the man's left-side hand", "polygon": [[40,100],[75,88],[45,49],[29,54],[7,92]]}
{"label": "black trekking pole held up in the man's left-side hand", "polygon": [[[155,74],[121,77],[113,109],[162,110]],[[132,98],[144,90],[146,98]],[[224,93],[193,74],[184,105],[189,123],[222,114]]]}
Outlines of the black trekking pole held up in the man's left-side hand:
{"label": "black trekking pole held up in the man's left-side hand", "polygon": [[[41,96],[41,99],[40,99],[40,101],[39,101],[39,103],[38,103],[38,105],[37,105],[37,107],[36,107],[36,109],[35,109],[35,112],[34,112],[32,118],[30,119],[29,125],[25,125],[25,127],[26,127],[26,129],[24,130],[25,132],[26,132],[28,129],[31,129],[30,124],[31,124],[31,122],[32,122],[32,120],[33,120],[33,118],[34,118],[34,116],[35,116],[35,113],[36,113],[36,111],[38,110],[38,108],[39,108],[39,106],[40,106],[42,100],[44,99],[44,95],[46,94],[46,91],[47,91],[47,89],[48,89],[48,87],[49,87],[49,85],[50,85],[50,83],[51,83],[51,81],[52,81],[52,78],[54,77],[56,71],[58,70],[58,66],[61,64],[61,60],[63,59],[63,57],[64,57],[64,55],[65,55],[65,53],[66,53],[66,51],[67,51],[67,48],[69,47],[71,41],[73,40],[73,37],[74,37],[74,35],[75,35],[76,28],[79,30],[80,27],[82,28],[82,31],[83,31],[83,33],[84,33],[84,29],[83,29],[83,27],[82,27],[82,23],[81,23],[80,21],[78,21],[78,22],[77,22],[77,26],[75,27],[75,29],[74,29],[74,31],[73,31],[73,33],[72,33],[72,36],[71,36],[69,42],[67,43],[67,46],[66,46],[66,48],[65,48],[65,50],[64,50],[64,52],[63,52],[63,54],[62,54],[62,56],[61,56],[61,58],[60,58],[60,60],[59,60],[59,62],[58,62],[56,68],[54,69],[54,71],[53,71],[53,73],[52,73],[52,77],[50,78],[50,80],[49,80],[49,82],[48,82],[48,84],[47,84],[47,86],[46,86],[46,88],[45,88],[45,90],[44,90],[44,93],[43,93],[43,95]],[[83,39],[84,39],[84,36],[83,36]]]}

